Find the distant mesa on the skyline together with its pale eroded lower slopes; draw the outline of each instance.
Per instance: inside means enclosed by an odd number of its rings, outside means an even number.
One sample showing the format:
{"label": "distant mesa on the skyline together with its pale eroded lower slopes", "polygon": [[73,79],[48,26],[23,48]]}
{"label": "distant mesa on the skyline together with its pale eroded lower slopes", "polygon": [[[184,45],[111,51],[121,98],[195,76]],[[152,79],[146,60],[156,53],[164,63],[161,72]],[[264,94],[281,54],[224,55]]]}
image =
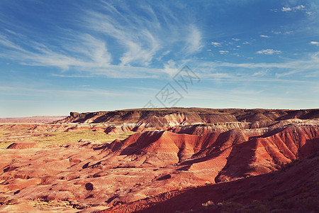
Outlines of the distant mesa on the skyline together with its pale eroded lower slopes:
{"label": "distant mesa on the skyline together with its pale eroded lower slopes", "polygon": [[[313,119],[319,116],[319,109],[270,110],[270,109],[201,109],[201,108],[164,108],[164,109],[127,109],[121,111],[98,111],[90,113],[71,112],[70,116],[53,124],[103,124],[109,134],[127,131],[150,131],[155,129],[188,133],[207,131],[227,131],[230,129],[260,129],[272,126],[287,118]],[[198,124],[198,127],[194,126]],[[200,125],[205,126],[201,128]],[[89,129],[88,126],[73,126],[73,129]],[[96,128],[96,127],[94,127]],[[192,128],[192,129],[191,129]]]}

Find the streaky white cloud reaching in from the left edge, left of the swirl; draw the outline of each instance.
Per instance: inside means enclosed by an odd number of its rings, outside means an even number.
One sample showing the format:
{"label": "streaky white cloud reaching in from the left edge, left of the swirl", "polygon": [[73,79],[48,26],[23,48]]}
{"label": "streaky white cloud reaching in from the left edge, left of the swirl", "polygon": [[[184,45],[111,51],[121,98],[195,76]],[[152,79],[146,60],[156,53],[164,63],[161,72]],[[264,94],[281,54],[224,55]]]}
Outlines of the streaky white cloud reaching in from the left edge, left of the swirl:
{"label": "streaky white cloud reaching in from the left edge, left of the swirl", "polygon": [[[91,35],[79,36],[77,41],[82,45],[67,43],[61,50],[53,50],[50,45],[32,40],[21,40],[28,49],[12,42],[5,42],[1,44],[8,50],[0,53],[0,57],[21,61],[24,65],[60,67],[63,70],[68,70],[69,67],[87,68],[109,65],[111,55],[103,41]],[[77,53],[77,57],[68,53]]]}

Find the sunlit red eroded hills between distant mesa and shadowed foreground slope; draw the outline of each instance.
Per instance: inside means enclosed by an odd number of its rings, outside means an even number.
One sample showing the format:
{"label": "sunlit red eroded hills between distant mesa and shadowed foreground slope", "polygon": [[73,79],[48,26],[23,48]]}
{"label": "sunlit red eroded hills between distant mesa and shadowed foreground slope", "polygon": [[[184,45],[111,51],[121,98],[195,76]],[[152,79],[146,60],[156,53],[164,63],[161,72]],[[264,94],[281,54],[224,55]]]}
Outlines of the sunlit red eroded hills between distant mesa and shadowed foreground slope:
{"label": "sunlit red eroded hills between distant mesa and shadowed foreground slope", "polygon": [[242,123],[138,132],[102,145],[80,141],[46,150],[12,149],[1,155],[0,202],[130,207],[174,190],[271,173],[318,153],[318,120],[276,121],[253,129]]}

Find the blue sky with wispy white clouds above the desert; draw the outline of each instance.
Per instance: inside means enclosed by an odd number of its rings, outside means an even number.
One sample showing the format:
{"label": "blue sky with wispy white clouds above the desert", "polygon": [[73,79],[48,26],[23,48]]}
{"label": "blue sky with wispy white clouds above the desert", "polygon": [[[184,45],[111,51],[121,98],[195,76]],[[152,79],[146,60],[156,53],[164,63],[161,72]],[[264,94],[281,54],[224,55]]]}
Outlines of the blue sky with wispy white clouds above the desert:
{"label": "blue sky with wispy white clouds above the desert", "polygon": [[0,1],[0,117],[319,108],[319,1]]}

